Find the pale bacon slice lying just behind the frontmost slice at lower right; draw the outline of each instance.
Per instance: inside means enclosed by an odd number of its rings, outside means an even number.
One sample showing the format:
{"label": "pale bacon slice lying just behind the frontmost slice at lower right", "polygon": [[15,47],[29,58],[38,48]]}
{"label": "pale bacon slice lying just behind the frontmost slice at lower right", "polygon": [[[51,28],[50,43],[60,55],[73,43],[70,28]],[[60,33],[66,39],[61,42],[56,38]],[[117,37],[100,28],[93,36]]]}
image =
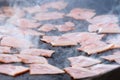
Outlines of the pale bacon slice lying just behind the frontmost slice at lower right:
{"label": "pale bacon slice lying just behind the frontmost slice at lower right", "polygon": [[89,67],[94,64],[101,63],[100,60],[85,56],[70,57],[68,60],[71,62],[72,67]]}

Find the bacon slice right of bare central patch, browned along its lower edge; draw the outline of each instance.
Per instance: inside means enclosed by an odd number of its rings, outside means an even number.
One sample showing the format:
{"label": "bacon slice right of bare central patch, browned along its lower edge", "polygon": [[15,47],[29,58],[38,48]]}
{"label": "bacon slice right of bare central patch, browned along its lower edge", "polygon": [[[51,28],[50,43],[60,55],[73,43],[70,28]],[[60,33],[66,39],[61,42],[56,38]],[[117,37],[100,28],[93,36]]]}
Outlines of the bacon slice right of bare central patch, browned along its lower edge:
{"label": "bacon slice right of bare central patch, browned along its lower edge", "polygon": [[112,49],[112,47],[113,44],[106,44],[105,42],[102,41],[93,41],[89,43],[83,43],[81,47],[78,48],[78,50],[84,51],[87,54],[91,55],[91,54],[107,51],[109,49]]}

